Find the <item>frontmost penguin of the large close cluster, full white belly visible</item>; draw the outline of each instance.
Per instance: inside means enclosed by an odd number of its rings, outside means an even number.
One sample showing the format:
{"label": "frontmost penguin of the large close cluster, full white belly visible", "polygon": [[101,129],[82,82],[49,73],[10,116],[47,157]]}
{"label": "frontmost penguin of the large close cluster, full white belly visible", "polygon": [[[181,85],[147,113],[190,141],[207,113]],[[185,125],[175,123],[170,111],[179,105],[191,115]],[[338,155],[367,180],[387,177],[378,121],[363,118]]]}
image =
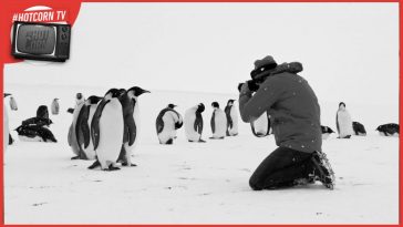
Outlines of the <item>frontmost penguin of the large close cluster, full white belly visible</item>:
{"label": "frontmost penguin of the large close cluster, full white belly visible", "polygon": [[99,163],[103,171],[120,169],[115,166],[121,153],[124,132],[120,96],[121,92],[117,89],[108,90],[96,106],[91,121],[91,138],[97,159],[95,163]]}

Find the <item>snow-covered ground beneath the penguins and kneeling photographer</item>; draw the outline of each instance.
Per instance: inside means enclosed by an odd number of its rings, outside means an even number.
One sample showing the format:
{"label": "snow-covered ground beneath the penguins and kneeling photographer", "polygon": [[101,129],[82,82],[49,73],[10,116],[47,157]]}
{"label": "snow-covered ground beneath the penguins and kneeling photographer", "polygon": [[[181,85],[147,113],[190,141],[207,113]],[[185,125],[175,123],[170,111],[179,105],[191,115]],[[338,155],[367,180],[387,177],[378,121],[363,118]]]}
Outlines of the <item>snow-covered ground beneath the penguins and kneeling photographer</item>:
{"label": "snow-covered ground beneath the penguins and kneeling photographer", "polygon": [[[128,85],[130,86],[130,85]],[[126,87],[127,89],[127,87]],[[143,87],[147,89],[147,87]],[[116,172],[89,171],[92,161],[71,161],[68,130],[76,92],[103,95],[106,87],[6,84],[19,110],[10,127],[34,116],[37,107],[60,99],[61,114],[51,115],[58,143],[21,142],[4,153],[6,224],[397,224],[399,138],[375,133],[395,122],[397,107],[374,114],[375,104],[347,103],[365,137],[323,141],[337,175],[334,190],[320,183],[289,189],[252,192],[248,179],[276,148],[272,136],[254,137],[240,123],[239,136],[210,141],[210,103],[224,107],[236,94],[152,91],[141,96],[141,141],[137,167]],[[155,118],[168,103],[177,111],[204,102],[205,144],[188,143],[184,130],[172,146],[159,145]],[[350,105],[349,105],[350,104]],[[321,102],[322,123],[335,131],[338,103]],[[359,120],[354,117],[360,115]],[[12,135],[17,138],[13,131]]]}

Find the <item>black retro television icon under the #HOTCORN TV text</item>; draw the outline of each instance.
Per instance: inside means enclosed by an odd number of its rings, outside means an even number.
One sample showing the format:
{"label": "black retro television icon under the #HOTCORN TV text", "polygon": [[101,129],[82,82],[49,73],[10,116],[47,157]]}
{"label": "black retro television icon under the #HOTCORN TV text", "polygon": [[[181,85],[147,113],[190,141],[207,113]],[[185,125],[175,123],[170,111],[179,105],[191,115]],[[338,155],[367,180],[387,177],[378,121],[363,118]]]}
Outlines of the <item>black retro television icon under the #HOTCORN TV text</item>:
{"label": "black retro television icon under the #HOTCORN TV text", "polygon": [[17,59],[64,62],[70,56],[70,24],[16,21],[11,54]]}

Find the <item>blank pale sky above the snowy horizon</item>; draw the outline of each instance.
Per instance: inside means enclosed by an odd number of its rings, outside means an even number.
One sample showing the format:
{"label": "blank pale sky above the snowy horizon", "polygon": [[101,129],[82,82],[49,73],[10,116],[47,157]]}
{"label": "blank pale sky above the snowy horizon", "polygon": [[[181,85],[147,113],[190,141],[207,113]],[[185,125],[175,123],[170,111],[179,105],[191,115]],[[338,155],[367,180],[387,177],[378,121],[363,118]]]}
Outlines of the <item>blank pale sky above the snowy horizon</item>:
{"label": "blank pale sky above the snowy horizon", "polygon": [[320,100],[399,105],[397,3],[84,3],[71,59],[7,65],[6,90],[49,83],[236,93],[267,54],[300,61]]}

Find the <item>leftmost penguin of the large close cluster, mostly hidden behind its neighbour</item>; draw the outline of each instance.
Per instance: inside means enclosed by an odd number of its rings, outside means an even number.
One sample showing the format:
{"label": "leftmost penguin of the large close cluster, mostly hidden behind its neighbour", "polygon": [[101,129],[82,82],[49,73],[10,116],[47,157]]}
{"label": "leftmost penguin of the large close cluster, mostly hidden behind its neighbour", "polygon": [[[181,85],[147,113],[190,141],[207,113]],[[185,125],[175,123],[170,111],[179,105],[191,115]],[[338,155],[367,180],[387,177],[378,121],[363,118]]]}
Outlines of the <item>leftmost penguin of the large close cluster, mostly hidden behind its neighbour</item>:
{"label": "leftmost penguin of the large close cluster, mostly hidden behind its neighbour", "polygon": [[79,145],[79,140],[78,136],[80,136],[80,141],[84,141],[84,138],[82,138],[83,134],[79,133],[79,135],[76,135],[76,122],[79,118],[79,114],[81,109],[84,106],[84,96],[81,93],[76,94],[76,100],[75,100],[75,106],[73,110],[73,121],[70,125],[69,128],[69,135],[68,135],[68,142],[69,145],[71,147],[71,149],[73,151],[74,155],[71,159],[86,159],[84,152],[82,151],[81,146]]}

